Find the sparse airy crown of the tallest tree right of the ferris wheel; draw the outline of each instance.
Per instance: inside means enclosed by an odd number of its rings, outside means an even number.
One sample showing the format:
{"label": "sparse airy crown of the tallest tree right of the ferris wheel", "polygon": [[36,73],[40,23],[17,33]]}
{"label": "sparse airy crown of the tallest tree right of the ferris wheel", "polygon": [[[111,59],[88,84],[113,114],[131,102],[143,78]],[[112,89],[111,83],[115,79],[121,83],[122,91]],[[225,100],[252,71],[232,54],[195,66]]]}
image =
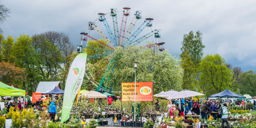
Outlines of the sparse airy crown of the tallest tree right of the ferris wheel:
{"label": "sparse airy crown of the tallest tree right of the ferris wheel", "polygon": [[183,41],[181,42],[182,48],[180,50],[182,54],[188,51],[191,61],[195,66],[198,66],[203,56],[205,46],[202,43],[202,39],[202,33],[200,31],[197,31],[195,34],[193,31],[190,31],[189,34],[184,34]]}

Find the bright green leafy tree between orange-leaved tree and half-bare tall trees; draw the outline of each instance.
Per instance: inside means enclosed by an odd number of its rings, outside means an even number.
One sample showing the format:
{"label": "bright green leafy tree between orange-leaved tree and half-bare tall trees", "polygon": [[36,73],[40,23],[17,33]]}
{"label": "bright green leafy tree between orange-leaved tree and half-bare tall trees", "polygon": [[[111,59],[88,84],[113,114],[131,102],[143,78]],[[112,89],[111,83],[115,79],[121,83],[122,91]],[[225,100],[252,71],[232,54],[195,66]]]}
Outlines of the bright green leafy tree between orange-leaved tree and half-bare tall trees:
{"label": "bright green leafy tree between orange-leaved tree and half-bare tall trees", "polygon": [[38,60],[40,58],[32,46],[32,40],[29,35],[21,34],[19,38],[16,38],[12,56],[17,66],[26,69],[27,78],[22,88],[28,93],[36,91],[38,83],[42,81],[42,76],[39,74],[40,69],[38,68]]}

